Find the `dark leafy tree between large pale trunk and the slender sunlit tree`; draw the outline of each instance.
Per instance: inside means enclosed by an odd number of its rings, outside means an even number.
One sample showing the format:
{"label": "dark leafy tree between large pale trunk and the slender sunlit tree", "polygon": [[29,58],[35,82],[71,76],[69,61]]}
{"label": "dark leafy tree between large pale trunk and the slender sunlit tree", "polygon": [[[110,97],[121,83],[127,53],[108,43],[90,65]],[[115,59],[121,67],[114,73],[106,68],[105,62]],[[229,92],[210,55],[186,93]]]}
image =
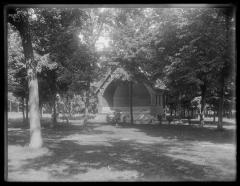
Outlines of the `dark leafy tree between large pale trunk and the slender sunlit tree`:
{"label": "dark leafy tree between large pale trunk and the slender sunlit tree", "polygon": [[[42,64],[46,67],[43,72],[43,79],[49,84],[42,90],[47,90],[52,107],[53,125],[57,118],[57,93],[61,95],[67,92],[70,84],[74,82],[74,68],[80,59],[74,62],[79,52],[79,38],[85,12],[76,8],[36,8],[36,21],[33,22],[35,50],[47,56],[47,63]],[[81,56],[81,51],[78,57]],[[83,57],[81,57],[83,59]],[[77,67],[76,67],[77,68]]]}

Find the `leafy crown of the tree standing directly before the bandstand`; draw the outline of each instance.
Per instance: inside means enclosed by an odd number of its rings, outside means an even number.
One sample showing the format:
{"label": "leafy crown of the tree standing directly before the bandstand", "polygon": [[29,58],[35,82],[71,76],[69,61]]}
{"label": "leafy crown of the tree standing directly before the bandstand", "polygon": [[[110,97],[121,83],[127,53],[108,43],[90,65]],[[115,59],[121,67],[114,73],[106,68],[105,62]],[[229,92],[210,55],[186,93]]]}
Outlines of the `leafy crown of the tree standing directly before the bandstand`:
{"label": "leafy crown of the tree standing directly before the bandstand", "polygon": [[112,56],[132,74],[131,79],[154,85],[164,76],[163,67],[176,48],[178,14],[173,9],[115,10]]}

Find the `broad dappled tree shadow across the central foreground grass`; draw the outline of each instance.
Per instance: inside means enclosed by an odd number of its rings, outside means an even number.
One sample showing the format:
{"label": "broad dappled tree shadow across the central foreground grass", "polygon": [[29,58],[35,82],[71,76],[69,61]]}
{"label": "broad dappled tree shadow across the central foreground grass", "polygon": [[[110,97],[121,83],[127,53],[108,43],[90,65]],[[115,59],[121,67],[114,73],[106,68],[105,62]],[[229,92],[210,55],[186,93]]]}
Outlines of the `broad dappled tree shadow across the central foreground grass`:
{"label": "broad dappled tree shadow across the central foreground grass", "polygon": [[[124,172],[132,170],[135,180],[202,180],[206,178],[207,166],[196,166],[186,160],[175,160],[164,155],[167,146],[161,146],[156,151],[154,146],[138,144],[134,142],[111,142],[112,146],[82,146],[73,141],[61,141],[54,148],[49,147],[51,156],[41,156],[34,159],[27,159],[21,171],[42,170],[55,179],[79,177],[89,170],[103,170],[108,174],[114,171]],[[137,147],[137,148],[136,148]],[[160,154],[157,155],[156,153]],[[103,172],[98,172],[102,174]],[[136,176],[137,175],[137,176]],[[121,173],[119,173],[121,177]],[[125,179],[134,175],[125,176]],[[117,178],[120,179],[121,178]],[[91,181],[94,178],[85,177]],[[107,180],[111,180],[111,176]],[[124,178],[123,178],[124,180]]]}

